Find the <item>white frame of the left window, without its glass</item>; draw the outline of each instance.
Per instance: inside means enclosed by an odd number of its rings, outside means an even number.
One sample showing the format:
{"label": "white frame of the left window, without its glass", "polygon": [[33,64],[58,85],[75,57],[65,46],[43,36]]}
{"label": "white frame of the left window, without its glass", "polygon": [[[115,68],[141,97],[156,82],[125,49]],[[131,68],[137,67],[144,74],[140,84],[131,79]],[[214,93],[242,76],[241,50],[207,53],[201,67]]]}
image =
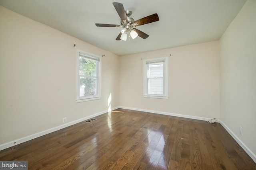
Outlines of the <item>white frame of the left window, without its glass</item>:
{"label": "white frame of the left window, without its glass", "polygon": [[[93,96],[82,96],[80,97],[80,72],[79,72],[79,61],[80,61],[80,54],[82,57],[87,59],[95,59],[98,60],[97,63],[97,70],[96,70],[96,77],[97,77],[97,86],[96,86],[96,95]],[[76,103],[79,102],[86,102],[91,100],[99,100],[101,98],[101,57],[94,55],[92,53],[88,53],[86,51],[77,50],[77,73],[76,73],[77,81],[76,81]]]}

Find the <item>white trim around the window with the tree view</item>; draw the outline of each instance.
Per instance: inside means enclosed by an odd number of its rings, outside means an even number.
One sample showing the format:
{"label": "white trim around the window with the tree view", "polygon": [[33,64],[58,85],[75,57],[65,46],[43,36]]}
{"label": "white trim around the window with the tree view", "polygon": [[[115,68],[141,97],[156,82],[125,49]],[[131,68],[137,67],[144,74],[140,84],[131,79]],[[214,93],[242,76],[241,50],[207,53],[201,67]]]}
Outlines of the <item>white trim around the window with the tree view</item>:
{"label": "white trim around the window with the tree view", "polygon": [[[93,57],[99,59],[98,63],[98,87],[97,87],[97,95],[95,96],[85,96],[85,97],[79,97],[79,88],[80,88],[80,76],[79,76],[79,53],[82,53],[83,55],[86,55],[88,57]],[[76,103],[80,102],[86,102],[91,100],[99,100],[101,98],[101,57],[94,55],[92,53],[88,53],[86,51],[77,50],[77,72],[76,72]]]}

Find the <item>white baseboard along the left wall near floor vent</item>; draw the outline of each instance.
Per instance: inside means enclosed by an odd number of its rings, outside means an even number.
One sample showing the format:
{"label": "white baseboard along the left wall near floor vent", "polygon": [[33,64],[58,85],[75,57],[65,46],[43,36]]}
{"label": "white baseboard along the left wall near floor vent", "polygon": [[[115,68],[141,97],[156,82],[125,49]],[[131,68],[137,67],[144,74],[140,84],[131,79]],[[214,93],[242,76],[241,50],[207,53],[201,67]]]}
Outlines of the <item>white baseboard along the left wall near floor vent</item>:
{"label": "white baseboard along the left wall near floor vent", "polygon": [[[114,108],[112,108],[111,110],[115,110],[115,109],[118,109],[118,108],[119,108],[119,107],[114,107]],[[10,142],[8,142],[8,143],[4,143],[4,144],[0,145],[0,150],[4,150],[4,149],[7,149],[7,148],[9,148],[9,147],[13,147],[13,146],[15,146],[15,145],[18,145],[18,144],[20,144],[20,143],[24,143],[24,142],[26,142],[26,141],[30,141],[31,139],[35,139],[35,138],[37,138],[37,137],[41,137],[41,136],[43,136],[43,135],[47,135],[47,134],[49,134],[49,133],[58,131],[58,130],[63,129],[63,128],[65,128],[65,127],[74,125],[74,124],[76,124],[76,123],[80,123],[80,122],[82,122],[82,121],[85,121],[85,120],[87,120],[87,119],[91,119],[92,117],[96,117],[96,116],[98,116],[98,115],[102,115],[102,114],[107,113],[107,112],[108,112],[108,110],[101,111],[101,112],[99,112],[99,113],[96,113],[96,114],[93,114],[93,115],[90,115],[90,116],[87,116],[87,117],[83,117],[83,118],[81,118],[81,119],[78,119],[78,120],[75,120],[75,121],[72,121],[72,122],[68,122],[68,123],[65,123],[65,124],[63,124],[63,125],[60,125],[60,126],[57,126],[57,127],[53,127],[53,128],[51,128],[51,129],[47,129],[47,130],[42,131],[42,132],[35,133],[35,134],[33,134],[33,135],[29,135],[29,136],[26,136],[26,137],[22,137],[22,138],[20,138],[20,139],[16,139],[16,140],[14,140],[14,141],[10,141]]]}

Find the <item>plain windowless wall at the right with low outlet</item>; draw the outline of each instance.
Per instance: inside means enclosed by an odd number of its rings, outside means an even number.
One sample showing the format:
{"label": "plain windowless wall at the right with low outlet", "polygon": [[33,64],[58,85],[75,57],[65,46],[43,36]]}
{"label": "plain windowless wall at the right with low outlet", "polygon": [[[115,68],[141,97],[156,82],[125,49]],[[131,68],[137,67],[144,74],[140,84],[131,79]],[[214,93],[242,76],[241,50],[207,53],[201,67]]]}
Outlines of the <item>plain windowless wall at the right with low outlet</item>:
{"label": "plain windowless wall at the right with low outlet", "polygon": [[256,0],[246,2],[222,35],[220,48],[220,119],[255,157]]}

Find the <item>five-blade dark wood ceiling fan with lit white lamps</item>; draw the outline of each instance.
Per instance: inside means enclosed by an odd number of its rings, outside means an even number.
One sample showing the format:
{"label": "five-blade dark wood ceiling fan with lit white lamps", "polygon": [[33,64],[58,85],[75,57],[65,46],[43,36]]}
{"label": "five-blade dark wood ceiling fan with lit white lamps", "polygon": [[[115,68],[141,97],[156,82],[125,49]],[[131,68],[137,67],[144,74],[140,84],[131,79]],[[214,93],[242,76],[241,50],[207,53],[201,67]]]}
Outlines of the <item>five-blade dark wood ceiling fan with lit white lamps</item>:
{"label": "five-blade dark wood ceiling fan with lit white lamps", "polygon": [[140,20],[134,21],[134,19],[130,17],[132,15],[131,10],[124,10],[123,4],[118,2],[113,2],[113,5],[116,9],[116,12],[121,18],[120,25],[105,24],[105,23],[95,23],[95,25],[97,27],[122,27],[123,29],[117,36],[116,40],[126,41],[128,32],[130,32],[130,37],[132,37],[132,39],[136,38],[137,36],[142,37],[143,39],[146,39],[149,35],[134,27],[139,25],[144,25],[147,23],[152,23],[159,20],[157,14],[152,14],[150,16],[141,18]]}

